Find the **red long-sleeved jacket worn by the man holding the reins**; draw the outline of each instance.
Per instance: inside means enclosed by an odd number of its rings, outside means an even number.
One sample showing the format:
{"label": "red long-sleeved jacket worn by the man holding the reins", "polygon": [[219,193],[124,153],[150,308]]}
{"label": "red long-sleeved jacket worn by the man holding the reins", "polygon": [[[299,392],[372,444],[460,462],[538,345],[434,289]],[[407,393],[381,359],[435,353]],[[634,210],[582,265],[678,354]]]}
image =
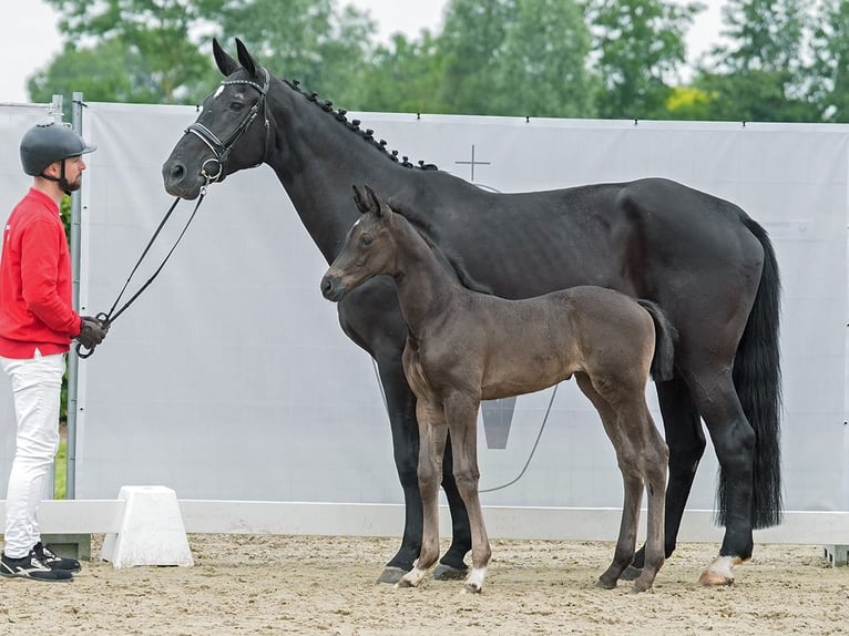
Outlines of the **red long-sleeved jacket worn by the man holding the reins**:
{"label": "red long-sleeved jacket worn by the man holding the reins", "polygon": [[71,300],[71,255],[55,202],[30,192],[14,206],[0,256],[0,356],[68,351],[80,334]]}

